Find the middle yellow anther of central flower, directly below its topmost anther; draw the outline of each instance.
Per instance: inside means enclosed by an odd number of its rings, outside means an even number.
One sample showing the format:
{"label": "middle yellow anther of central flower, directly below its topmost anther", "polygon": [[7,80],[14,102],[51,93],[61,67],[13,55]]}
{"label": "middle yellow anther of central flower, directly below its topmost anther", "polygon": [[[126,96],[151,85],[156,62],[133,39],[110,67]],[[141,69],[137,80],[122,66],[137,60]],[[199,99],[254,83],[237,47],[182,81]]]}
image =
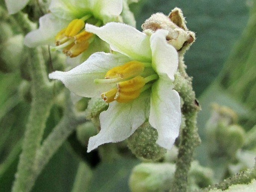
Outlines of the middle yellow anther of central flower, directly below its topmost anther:
{"label": "middle yellow anther of central flower, directly below its topmost anther", "polygon": [[133,92],[141,89],[145,85],[145,80],[141,76],[134,77],[127,81],[122,81],[117,84],[118,92]]}

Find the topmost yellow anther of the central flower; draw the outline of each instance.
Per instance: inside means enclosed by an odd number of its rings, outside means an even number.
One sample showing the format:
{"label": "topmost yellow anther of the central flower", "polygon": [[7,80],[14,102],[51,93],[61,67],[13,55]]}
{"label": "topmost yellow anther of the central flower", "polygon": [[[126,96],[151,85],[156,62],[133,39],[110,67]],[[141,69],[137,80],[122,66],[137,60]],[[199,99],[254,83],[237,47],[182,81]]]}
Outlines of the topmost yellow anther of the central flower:
{"label": "topmost yellow anther of the central flower", "polygon": [[112,69],[110,69],[106,75],[105,78],[116,78],[116,77],[121,77],[121,78],[130,78],[134,77],[136,75],[141,74],[144,71],[145,65],[142,62],[139,61],[130,61],[127,62],[124,65],[116,66]]}

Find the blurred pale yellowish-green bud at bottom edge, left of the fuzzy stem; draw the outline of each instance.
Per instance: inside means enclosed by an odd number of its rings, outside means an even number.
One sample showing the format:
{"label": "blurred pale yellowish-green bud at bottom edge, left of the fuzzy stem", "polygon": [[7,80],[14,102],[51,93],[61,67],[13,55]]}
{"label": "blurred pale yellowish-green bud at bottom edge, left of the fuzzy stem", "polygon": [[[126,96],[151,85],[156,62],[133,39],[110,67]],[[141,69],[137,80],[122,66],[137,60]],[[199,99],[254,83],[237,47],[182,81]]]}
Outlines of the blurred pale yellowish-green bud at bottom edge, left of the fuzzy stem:
{"label": "blurred pale yellowish-green bud at bottom edge, left of the fuzzy stem", "polygon": [[129,180],[132,192],[164,192],[172,186],[175,164],[141,163],[133,168]]}

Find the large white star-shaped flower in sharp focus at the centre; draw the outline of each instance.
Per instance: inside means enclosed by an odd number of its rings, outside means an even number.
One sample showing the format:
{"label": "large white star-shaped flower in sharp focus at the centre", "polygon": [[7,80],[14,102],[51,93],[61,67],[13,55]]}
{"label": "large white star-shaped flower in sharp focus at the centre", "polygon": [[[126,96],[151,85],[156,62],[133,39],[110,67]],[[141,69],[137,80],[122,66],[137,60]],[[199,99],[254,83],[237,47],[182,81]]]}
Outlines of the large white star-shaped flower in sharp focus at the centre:
{"label": "large white star-shaped flower in sharp focus at the centre", "polygon": [[147,119],[158,131],[157,144],[172,148],[179,134],[181,106],[173,90],[178,53],[166,42],[168,31],[158,30],[149,37],[114,22],[103,27],[86,24],[86,31],[98,35],[115,52],[95,53],[70,71],[55,71],[49,78],[61,80],[77,95],[101,96],[109,103],[100,114],[101,130],[90,138],[88,152],[126,139]]}

